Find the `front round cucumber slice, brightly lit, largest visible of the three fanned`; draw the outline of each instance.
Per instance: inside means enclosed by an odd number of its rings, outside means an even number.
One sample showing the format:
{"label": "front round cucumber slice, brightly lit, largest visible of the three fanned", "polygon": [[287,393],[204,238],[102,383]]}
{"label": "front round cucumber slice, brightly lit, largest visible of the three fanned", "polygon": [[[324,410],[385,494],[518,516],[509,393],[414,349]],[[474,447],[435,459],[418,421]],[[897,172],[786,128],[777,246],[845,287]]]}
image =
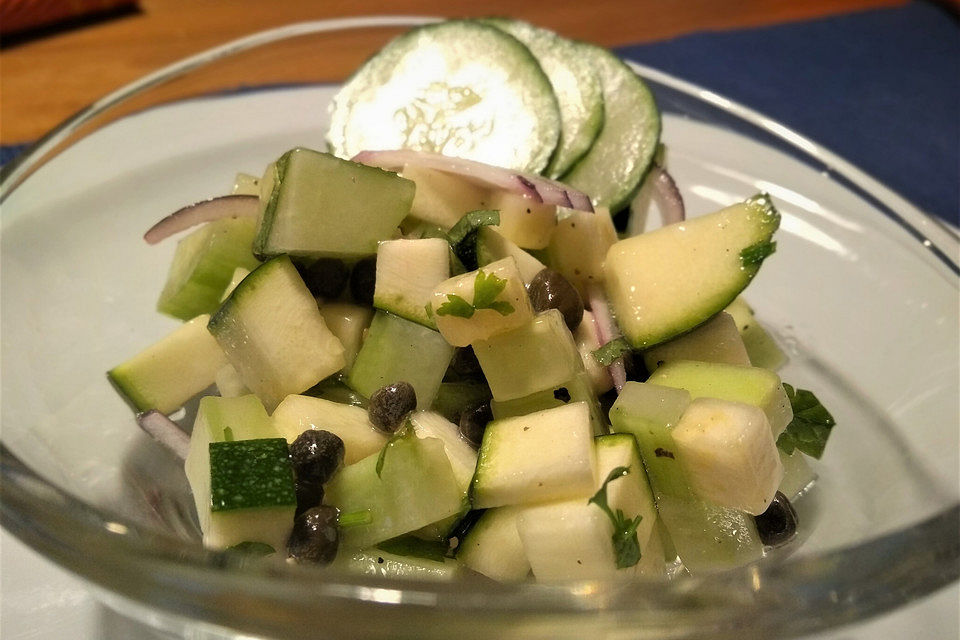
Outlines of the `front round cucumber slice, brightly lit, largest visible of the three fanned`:
{"label": "front round cucumber slice, brightly lit, largest visible of the three fanned", "polygon": [[557,99],[530,51],[450,20],[399,36],[354,73],[334,98],[328,141],[343,158],[418,149],[539,172],[559,135]]}

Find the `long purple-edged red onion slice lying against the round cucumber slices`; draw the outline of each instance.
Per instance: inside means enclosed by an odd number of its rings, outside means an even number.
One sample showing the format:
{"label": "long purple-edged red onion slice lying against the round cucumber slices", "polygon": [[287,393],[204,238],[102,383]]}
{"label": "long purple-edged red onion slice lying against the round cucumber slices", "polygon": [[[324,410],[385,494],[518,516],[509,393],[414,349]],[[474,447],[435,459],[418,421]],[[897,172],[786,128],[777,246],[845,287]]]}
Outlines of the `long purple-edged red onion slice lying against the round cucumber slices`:
{"label": "long purple-edged red onion slice lying against the round cucumber slices", "polygon": [[388,171],[401,171],[406,165],[435,169],[463,176],[485,187],[503,189],[532,198],[536,202],[552,204],[578,211],[593,212],[590,197],[567,185],[532,173],[520,173],[493,165],[452,158],[429,151],[396,149],[391,151],[361,151],[353,157],[354,162],[380,167]]}

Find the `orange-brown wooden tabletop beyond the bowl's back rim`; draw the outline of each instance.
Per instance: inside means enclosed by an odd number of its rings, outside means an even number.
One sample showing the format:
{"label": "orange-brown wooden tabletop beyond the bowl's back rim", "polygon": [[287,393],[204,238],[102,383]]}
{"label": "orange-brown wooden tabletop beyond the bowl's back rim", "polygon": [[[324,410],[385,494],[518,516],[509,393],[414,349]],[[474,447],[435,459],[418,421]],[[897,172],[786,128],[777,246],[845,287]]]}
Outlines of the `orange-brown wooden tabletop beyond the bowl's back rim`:
{"label": "orange-brown wooden tabletop beyond the bowl's back rim", "polygon": [[303,20],[366,14],[511,15],[606,46],[803,20],[904,0],[141,0],[140,10],[0,50],[0,143],[37,138],[106,93],[209,47]]}

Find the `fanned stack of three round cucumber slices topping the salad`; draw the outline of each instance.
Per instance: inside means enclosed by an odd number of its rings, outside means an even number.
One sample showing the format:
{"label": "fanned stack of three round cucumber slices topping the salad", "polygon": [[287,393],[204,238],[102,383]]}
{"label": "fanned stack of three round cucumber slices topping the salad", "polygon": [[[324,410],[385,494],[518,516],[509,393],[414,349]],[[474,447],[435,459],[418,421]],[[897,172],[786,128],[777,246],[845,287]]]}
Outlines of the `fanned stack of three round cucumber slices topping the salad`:
{"label": "fanned stack of three round cucumber slices topping the salad", "polygon": [[653,159],[660,114],[610,52],[507,18],[413,29],[334,98],[328,142],[351,158],[415,149],[539,172],[625,208]]}

